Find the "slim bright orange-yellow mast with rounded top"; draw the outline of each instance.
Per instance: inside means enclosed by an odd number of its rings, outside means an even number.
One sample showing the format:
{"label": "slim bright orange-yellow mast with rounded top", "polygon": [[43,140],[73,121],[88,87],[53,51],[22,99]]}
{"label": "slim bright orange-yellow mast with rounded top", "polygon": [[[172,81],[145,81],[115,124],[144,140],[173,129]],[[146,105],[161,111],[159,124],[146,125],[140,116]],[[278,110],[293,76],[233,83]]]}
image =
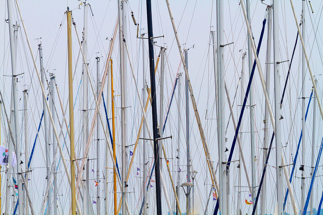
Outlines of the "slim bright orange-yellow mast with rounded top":
{"label": "slim bright orange-yellow mast with rounded top", "polygon": [[[113,90],[113,72],[112,72],[112,59],[111,61],[111,105],[112,105],[112,148],[113,148],[113,159],[116,162],[116,131],[114,124],[114,90]],[[117,215],[117,173],[113,169],[113,200],[114,200],[114,215]]]}

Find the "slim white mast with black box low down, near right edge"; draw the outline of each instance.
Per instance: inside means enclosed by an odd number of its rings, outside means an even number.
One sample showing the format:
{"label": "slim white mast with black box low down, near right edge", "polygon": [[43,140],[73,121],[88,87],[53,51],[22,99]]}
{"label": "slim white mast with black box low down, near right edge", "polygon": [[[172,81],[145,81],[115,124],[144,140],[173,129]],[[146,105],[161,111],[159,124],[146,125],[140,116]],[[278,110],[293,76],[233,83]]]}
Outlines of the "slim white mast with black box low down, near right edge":
{"label": "slim white mast with black box low down, near right edge", "polygon": [[[305,10],[306,10],[306,2],[302,1],[302,37],[305,38]],[[307,64],[306,64],[306,58],[304,55],[304,52],[302,52],[302,164],[299,168],[299,170],[302,171],[302,197],[301,197],[301,211],[304,210],[305,206],[305,200],[306,200],[306,189],[305,189],[305,171],[304,171],[304,165],[305,165],[305,148],[306,148],[306,142],[307,142],[307,132],[306,132],[306,126],[305,126],[305,114],[306,114],[306,104],[305,104],[305,92],[306,92],[306,86],[305,86],[305,74],[307,70]]]}

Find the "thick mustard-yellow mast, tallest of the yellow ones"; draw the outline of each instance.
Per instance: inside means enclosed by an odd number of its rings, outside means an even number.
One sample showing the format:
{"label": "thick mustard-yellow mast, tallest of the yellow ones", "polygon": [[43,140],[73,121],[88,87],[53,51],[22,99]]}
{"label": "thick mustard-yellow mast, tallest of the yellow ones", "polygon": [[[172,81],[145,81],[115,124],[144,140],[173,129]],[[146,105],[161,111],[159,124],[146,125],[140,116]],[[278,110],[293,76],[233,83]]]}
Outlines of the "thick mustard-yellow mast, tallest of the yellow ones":
{"label": "thick mustard-yellow mast, tallest of the yellow ones", "polygon": [[68,104],[69,104],[69,125],[70,125],[70,150],[71,150],[71,194],[72,194],[72,215],[76,215],[75,196],[75,152],[74,152],[74,110],[73,110],[73,74],[72,74],[72,12],[67,7],[67,46],[68,46]]}

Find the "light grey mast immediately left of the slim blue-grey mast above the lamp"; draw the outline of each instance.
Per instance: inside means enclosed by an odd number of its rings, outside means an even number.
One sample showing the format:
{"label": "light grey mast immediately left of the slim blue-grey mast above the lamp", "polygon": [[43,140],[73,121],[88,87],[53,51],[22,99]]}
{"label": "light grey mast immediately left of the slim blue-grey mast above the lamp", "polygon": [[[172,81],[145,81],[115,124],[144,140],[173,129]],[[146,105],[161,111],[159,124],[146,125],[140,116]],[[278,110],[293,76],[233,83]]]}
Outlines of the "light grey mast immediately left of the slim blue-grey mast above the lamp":
{"label": "light grey mast immediately left of the slim blue-grey mast above the lamp", "polygon": [[[182,118],[181,118],[181,110],[182,110],[182,73],[178,74],[178,101],[177,101],[177,105],[178,105],[178,119],[177,119],[177,185],[176,185],[176,194],[178,199],[180,199],[180,157],[181,157],[181,124],[182,124]],[[177,205],[177,202],[176,202]],[[176,215],[179,215],[179,211],[178,211],[178,207],[176,207]],[[181,214],[182,215],[182,214]]]}

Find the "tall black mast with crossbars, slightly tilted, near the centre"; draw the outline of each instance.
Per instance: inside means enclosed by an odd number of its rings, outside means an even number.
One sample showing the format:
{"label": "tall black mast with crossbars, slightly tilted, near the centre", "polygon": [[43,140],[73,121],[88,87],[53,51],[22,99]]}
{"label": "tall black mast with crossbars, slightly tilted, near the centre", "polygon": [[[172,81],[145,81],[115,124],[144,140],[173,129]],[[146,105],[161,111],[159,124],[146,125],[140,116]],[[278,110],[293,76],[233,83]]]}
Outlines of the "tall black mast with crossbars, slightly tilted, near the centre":
{"label": "tall black mast with crossbars, slightly tilted, near the centre", "polygon": [[159,172],[159,145],[157,129],[157,105],[156,105],[156,81],[155,81],[155,62],[154,62],[154,44],[152,33],[152,15],[151,0],[146,0],[147,5],[147,27],[148,27],[148,47],[149,47],[149,67],[151,83],[151,110],[152,110],[152,130],[154,138],[154,157],[155,157],[155,181],[156,181],[156,214],[161,215],[161,181]]}

